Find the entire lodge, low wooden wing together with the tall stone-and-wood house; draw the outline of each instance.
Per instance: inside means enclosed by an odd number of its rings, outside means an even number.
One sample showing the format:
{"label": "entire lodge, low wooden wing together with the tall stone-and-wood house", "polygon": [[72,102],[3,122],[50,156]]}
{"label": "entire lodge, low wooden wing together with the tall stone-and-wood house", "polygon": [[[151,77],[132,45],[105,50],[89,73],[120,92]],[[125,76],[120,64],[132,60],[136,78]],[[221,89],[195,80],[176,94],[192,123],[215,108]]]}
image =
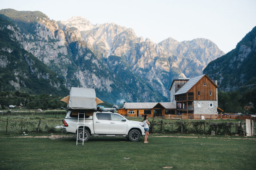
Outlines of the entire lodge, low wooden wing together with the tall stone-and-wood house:
{"label": "entire lodge, low wooden wing together with the tall stone-and-wood house", "polygon": [[[125,103],[118,113],[128,117],[165,117],[165,115],[215,114],[218,108],[217,81],[206,74],[192,79],[174,79],[170,87],[171,102]],[[218,108],[218,110],[217,110]]]}

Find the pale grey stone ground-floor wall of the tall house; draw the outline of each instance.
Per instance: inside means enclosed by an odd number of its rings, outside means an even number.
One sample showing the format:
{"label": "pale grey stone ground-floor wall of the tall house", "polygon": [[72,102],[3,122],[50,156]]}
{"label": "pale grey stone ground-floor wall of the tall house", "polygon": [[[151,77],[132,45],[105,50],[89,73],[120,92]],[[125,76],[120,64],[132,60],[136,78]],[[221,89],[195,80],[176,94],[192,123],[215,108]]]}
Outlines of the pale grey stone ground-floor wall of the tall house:
{"label": "pale grey stone ground-floor wall of the tall house", "polygon": [[[201,107],[198,107],[201,103]],[[212,103],[212,107],[210,107]],[[194,101],[194,114],[218,114],[218,102],[216,100],[195,100]]]}

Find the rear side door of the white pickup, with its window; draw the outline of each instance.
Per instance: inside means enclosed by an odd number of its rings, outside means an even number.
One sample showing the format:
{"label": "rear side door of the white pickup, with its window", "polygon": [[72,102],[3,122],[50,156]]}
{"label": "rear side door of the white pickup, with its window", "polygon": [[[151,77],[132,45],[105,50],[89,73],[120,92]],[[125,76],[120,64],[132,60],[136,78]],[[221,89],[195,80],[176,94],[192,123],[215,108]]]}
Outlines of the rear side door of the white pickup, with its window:
{"label": "rear side door of the white pickup, with its window", "polygon": [[96,113],[96,117],[93,117],[94,131],[98,134],[109,133],[109,119],[108,113]]}

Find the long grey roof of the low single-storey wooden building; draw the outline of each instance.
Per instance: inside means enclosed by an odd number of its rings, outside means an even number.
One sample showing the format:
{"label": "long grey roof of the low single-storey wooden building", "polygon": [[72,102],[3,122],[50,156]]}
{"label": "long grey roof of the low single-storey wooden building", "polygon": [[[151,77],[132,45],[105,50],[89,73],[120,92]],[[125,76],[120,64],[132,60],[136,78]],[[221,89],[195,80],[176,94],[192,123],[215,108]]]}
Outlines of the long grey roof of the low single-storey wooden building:
{"label": "long grey roof of the low single-storey wooden building", "polygon": [[171,102],[154,102],[154,103],[125,103],[125,109],[152,109],[160,103],[165,109],[176,109]]}

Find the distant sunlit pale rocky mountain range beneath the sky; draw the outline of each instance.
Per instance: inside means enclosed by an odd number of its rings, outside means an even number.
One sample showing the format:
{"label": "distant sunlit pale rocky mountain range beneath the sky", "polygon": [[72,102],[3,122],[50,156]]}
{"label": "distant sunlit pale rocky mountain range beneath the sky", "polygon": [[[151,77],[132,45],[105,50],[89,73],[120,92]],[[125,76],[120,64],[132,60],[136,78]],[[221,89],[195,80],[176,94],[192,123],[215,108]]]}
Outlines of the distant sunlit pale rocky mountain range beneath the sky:
{"label": "distant sunlit pale rocky mountain range beneath the sky", "polygon": [[[98,58],[110,55],[124,57],[132,72],[146,77],[155,89],[168,97],[168,86],[173,78],[195,77],[202,74],[207,64],[224,55],[208,39],[178,42],[172,38],[156,44],[137,37],[131,28],[115,23],[91,24],[82,17],[60,21],[66,27],[76,27]],[[109,66],[113,67],[113,66]]]}

